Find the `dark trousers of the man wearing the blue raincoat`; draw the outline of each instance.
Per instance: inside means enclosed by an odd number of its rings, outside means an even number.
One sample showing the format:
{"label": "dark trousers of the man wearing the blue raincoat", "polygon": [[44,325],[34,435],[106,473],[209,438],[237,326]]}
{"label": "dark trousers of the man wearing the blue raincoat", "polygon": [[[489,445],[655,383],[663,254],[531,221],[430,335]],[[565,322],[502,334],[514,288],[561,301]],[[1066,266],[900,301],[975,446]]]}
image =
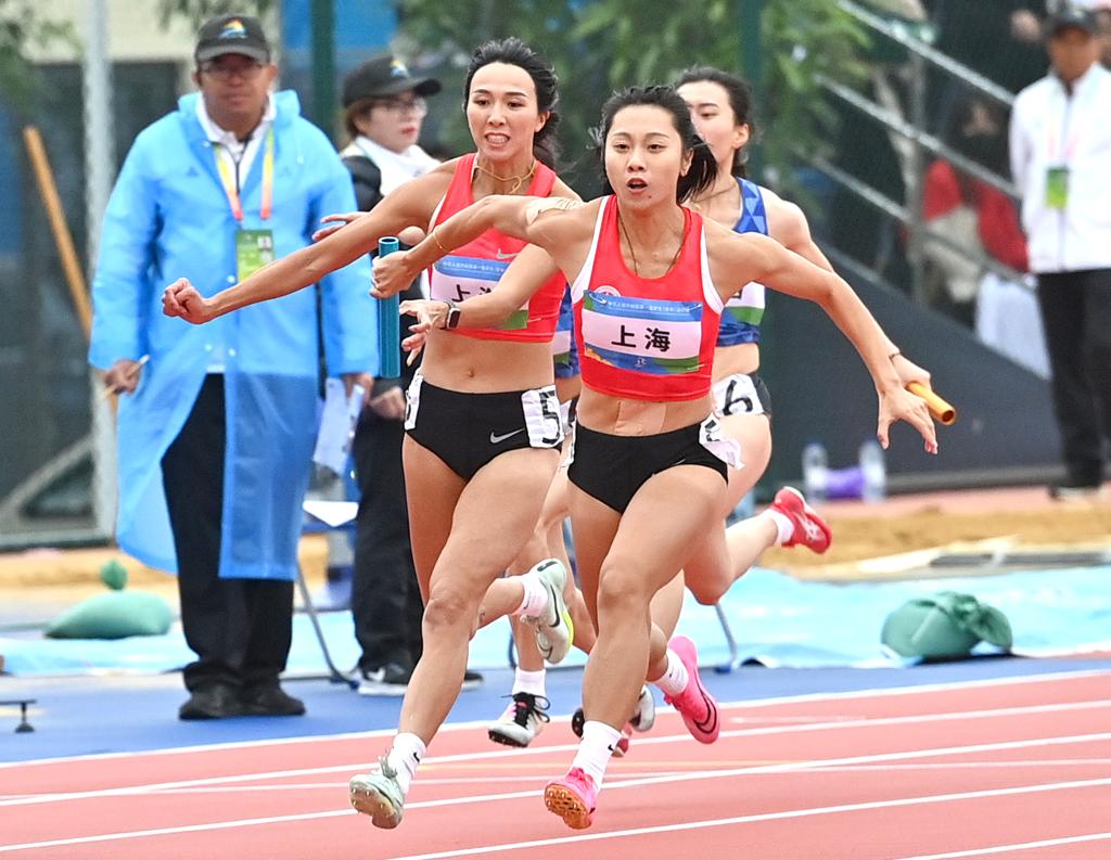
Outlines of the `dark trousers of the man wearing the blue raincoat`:
{"label": "dark trousers of the man wearing the blue raincoat", "polygon": [[184,669],[190,691],[277,683],[292,638],[292,582],[219,576],[226,440],[223,377],[210,373],[162,457],[181,626],[197,653]]}

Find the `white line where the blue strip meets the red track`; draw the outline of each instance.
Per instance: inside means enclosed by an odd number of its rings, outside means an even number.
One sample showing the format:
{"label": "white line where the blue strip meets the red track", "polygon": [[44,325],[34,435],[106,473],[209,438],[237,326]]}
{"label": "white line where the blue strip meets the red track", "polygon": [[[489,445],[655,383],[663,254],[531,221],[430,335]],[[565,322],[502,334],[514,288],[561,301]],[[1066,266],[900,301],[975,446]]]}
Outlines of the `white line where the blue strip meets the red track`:
{"label": "white line where the blue strip meets the red track", "polygon": [[[880,670],[877,670],[880,671]],[[947,681],[942,683],[927,683],[907,687],[874,687],[865,690],[848,690],[834,693],[800,693],[797,696],[777,696],[767,699],[739,700],[720,703],[722,710],[735,710],[739,708],[769,708],[777,704],[795,704],[799,702],[823,702],[843,701],[857,699],[882,699],[894,696],[913,696],[918,693],[945,692],[950,690],[967,690],[973,688],[994,688],[1007,686],[1023,686],[1028,683],[1049,683],[1054,681],[1069,681],[1081,678],[1093,678],[1111,674],[1105,670],[1081,669],[1068,672],[1050,672],[1045,674],[1032,674],[1011,678],[985,678],[970,681]],[[660,711],[670,711],[670,708],[659,708]],[[571,714],[552,717],[552,722],[567,722]],[[486,728],[489,720],[471,720],[469,722],[444,723],[440,729],[442,732],[466,731],[474,728]],[[276,747],[293,743],[320,743],[332,740],[367,740],[374,738],[389,738],[396,733],[396,729],[376,729],[374,731],[343,732],[340,734],[311,734],[297,738],[267,738],[253,741],[229,741],[227,743],[206,743],[191,747],[170,747],[158,750],[137,750],[133,752],[97,752],[86,756],[58,756],[44,759],[30,759],[28,761],[0,761],[0,770],[8,768],[26,768],[40,764],[72,763],[79,761],[103,761],[108,759],[138,758],[140,756],[179,756],[182,753],[196,752],[218,752],[230,749],[253,749],[256,747]]]}

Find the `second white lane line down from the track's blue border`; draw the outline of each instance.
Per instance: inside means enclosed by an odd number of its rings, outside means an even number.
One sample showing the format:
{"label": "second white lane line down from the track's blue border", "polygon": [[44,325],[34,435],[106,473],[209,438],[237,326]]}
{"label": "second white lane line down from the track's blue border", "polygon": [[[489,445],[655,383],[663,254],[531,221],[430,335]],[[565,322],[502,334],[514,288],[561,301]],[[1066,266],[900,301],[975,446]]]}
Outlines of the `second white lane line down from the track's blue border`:
{"label": "second white lane line down from the track's blue border", "polygon": [[[790,734],[795,732],[832,731],[835,729],[869,728],[874,726],[907,726],[921,722],[967,720],[971,718],[982,719],[984,717],[1021,717],[1030,713],[1063,712],[1075,710],[1088,710],[1094,708],[1111,707],[1111,700],[1100,699],[1095,701],[1069,702],[1067,704],[1032,704],[1019,708],[998,708],[994,710],[978,711],[949,711],[943,713],[913,714],[910,717],[880,717],[877,719],[855,720],[843,722],[834,720],[827,723],[808,723],[805,726],[772,726],[760,729],[729,729],[721,732],[722,738],[747,738],[762,737],[768,734]],[[1075,736],[1073,736],[1075,737]],[[1082,736],[1099,740],[1103,736]],[[679,743],[690,740],[687,732],[679,734],[661,734],[654,737],[640,737],[637,746]],[[529,747],[527,749],[512,750],[481,750],[476,752],[460,752],[452,756],[430,757],[424,760],[426,772],[436,764],[447,764],[454,762],[486,762],[503,759],[520,759],[530,756],[542,756],[550,752],[572,752],[579,749],[578,742],[563,743],[551,747]],[[53,803],[69,800],[86,800],[89,798],[120,797],[126,794],[143,793],[147,791],[161,791],[164,789],[187,788],[193,786],[220,786],[234,784],[241,782],[252,782],[269,779],[286,779],[289,777],[304,777],[323,773],[349,773],[368,767],[367,762],[354,762],[344,764],[332,764],[327,768],[297,768],[291,770],[262,771],[257,773],[238,773],[228,777],[203,777],[190,780],[173,780],[169,782],[153,782],[142,786],[123,786],[111,789],[92,789],[89,791],[69,791],[56,794],[36,794],[33,797],[19,798],[14,800],[0,800],[0,808],[29,806],[34,803]]]}

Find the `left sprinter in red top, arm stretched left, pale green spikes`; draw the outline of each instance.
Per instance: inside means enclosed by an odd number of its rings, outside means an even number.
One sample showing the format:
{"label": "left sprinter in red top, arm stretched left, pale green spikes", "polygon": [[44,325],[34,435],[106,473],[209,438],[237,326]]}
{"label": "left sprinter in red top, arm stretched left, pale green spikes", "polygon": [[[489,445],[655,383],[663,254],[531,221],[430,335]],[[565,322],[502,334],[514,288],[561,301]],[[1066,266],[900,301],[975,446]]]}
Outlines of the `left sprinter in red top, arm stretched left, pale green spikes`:
{"label": "left sprinter in red top, arm stretched left, pale green spikes", "polygon": [[[372,211],[237,287],[204,298],[178,281],[166,290],[164,312],[200,323],[284,296],[366,254],[380,237],[410,226],[427,230],[491,194],[577,199],[544,163],[552,160],[557,100],[554,72],[524,43],[483,44],[466,83],[476,153],[401,186]],[[492,290],[523,247],[497,230],[479,231],[431,271],[432,296],[462,301]],[[424,651],[380,770],[351,780],[352,804],[378,827],[401,821],[417,764],[459,693],[478,623],[507,613],[536,619],[538,643],[552,662],[570,646],[561,563],[499,579],[531,534],[559,461],[551,340],[565,284],[553,270],[498,324],[430,339],[409,390],[402,460],[426,603]]]}

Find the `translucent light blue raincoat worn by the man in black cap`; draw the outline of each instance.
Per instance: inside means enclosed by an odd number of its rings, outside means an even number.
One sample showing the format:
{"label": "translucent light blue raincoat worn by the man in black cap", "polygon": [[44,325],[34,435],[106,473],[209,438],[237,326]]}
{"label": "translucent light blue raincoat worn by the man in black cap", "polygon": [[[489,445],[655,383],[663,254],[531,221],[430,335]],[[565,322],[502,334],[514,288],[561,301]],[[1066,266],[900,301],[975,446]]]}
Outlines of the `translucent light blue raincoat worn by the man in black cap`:
{"label": "translucent light blue raincoat worn by the man in black cap", "polygon": [[[139,388],[120,398],[119,544],[177,571],[162,487],[162,454],[177,438],[222,344],[227,408],[220,576],[297,576],[301,502],[317,428],[317,293],[300,290],[192,326],[162,314],[162,289],[186,277],[211,296],[236,283],[236,231],[273,231],[283,257],[311,241],[319,219],[356,208],[351,177],[324,134],[300,116],[296,93],[276,100],[273,211],[259,216],[262,153],[232,217],[216,153],[197,119],[198,93],[144,129],[104,213],[93,279],[89,361],[108,369],[148,354]],[[370,266],[360,260],[320,283],[328,372],[378,372]],[[216,452],[213,452],[216,456]]]}

